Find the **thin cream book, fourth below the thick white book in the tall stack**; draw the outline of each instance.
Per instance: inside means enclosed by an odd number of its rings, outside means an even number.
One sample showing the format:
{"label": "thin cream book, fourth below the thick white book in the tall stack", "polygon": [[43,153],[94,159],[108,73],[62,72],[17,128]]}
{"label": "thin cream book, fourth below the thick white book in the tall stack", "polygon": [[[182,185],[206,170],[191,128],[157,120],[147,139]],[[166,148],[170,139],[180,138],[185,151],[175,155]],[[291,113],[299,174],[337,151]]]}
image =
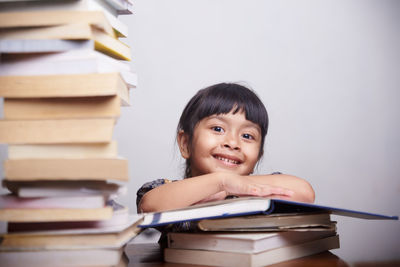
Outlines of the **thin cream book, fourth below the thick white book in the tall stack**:
{"label": "thin cream book, fourth below the thick white book in the tall stack", "polygon": [[[4,109],[6,109],[5,106],[6,104],[3,103]],[[4,113],[6,112],[4,111]],[[6,115],[4,116],[7,118]],[[118,156],[118,146],[115,140],[95,144],[9,145],[7,147],[9,159],[84,159],[116,158]]]}

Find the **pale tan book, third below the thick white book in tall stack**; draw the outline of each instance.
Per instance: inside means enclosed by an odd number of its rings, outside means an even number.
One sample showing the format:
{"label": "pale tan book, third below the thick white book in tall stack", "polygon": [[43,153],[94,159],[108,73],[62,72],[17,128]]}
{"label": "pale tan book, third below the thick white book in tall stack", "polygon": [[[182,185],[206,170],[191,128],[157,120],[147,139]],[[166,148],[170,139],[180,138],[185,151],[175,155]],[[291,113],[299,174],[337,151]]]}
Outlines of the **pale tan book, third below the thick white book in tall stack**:
{"label": "pale tan book, third below the thick white book in tall stack", "polygon": [[115,119],[0,120],[0,143],[101,143],[112,139]]}

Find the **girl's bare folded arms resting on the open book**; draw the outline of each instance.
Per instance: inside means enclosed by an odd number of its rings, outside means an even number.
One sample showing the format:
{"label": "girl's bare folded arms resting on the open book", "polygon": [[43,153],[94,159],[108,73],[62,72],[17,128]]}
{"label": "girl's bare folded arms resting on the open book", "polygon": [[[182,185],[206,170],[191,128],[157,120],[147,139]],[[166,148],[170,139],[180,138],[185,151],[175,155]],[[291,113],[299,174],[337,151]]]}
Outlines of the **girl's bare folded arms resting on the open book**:
{"label": "girl's bare folded arms resting on the open book", "polygon": [[304,202],[314,201],[314,191],[304,180],[289,175],[240,176],[210,173],[164,184],[147,192],[140,212],[188,207],[198,202],[224,199],[227,195],[264,196]]}

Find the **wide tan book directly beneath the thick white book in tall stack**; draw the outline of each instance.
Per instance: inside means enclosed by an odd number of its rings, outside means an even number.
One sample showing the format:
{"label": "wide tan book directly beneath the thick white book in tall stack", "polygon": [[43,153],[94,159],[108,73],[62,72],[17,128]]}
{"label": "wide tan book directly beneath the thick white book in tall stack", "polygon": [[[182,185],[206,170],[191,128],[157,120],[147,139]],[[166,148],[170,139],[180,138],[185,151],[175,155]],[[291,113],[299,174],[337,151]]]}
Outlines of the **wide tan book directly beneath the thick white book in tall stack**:
{"label": "wide tan book directly beneath the thick white book in tall stack", "polygon": [[93,97],[118,95],[129,103],[129,88],[117,72],[68,75],[2,76],[0,97]]}

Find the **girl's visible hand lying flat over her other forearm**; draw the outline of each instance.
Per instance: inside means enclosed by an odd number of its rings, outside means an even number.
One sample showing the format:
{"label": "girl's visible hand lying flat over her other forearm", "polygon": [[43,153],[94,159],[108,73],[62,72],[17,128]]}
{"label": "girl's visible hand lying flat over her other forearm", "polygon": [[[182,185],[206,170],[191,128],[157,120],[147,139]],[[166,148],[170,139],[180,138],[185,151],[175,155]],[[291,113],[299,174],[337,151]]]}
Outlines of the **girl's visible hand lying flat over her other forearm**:
{"label": "girl's visible hand lying flat over her other forearm", "polygon": [[290,198],[294,192],[277,186],[255,183],[246,176],[224,173],[222,191],[226,195]]}

